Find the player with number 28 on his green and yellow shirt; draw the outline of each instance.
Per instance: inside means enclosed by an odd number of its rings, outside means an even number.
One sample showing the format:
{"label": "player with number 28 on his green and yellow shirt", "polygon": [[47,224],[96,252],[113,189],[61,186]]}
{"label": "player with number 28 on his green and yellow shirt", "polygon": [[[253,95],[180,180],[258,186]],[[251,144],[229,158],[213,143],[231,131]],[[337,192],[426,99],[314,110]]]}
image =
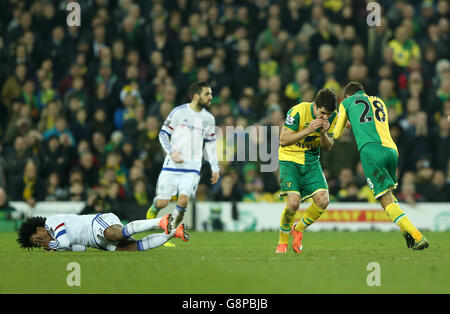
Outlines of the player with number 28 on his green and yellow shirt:
{"label": "player with number 28 on his green and yellow shirt", "polygon": [[429,246],[428,240],[411,223],[400,208],[392,190],[397,188],[398,149],[389,132],[386,105],[375,96],[368,96],[362,84],[345,86],[346,97],[339,106],[334,138],[338,139],[350,122],[358,145],[367,184],[389,218],[400,227],[406,245],[414,250]]}

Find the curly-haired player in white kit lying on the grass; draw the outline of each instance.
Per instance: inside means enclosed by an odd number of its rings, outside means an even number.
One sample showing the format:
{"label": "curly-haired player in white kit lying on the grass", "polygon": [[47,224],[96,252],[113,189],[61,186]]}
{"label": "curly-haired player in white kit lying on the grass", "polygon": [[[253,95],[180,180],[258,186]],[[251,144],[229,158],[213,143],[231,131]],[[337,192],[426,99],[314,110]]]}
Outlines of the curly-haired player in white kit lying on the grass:
{"label": "curly-haired player in white kit lying on the grass", "polygon": [[[171,227],[172,215],[149,220],[135,220],[123,226],[112,214],[54,215],[29,217],[20,226],[17,242],[22,248],[42,247],[52,251],[145,251],[157,248],[175,237],[189,240],[186,225]],[[150,234],[136,241],[136,233],[161,228],[164,233]]]}

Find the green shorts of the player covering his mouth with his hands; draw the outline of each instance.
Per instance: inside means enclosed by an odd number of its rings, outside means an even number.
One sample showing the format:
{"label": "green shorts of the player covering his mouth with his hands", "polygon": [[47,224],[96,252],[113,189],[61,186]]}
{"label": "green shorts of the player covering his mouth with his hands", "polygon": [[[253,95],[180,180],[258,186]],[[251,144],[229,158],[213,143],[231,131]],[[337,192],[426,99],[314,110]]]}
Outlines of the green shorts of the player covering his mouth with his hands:
{"label": "green shorts of the player covering his mouth with his hands", "polygon": [[302,201],[319,191],[328,191],[328,184],[319,161],[301,165],[280,160],[280,185],[280,196],[296,193],[300,195]]}

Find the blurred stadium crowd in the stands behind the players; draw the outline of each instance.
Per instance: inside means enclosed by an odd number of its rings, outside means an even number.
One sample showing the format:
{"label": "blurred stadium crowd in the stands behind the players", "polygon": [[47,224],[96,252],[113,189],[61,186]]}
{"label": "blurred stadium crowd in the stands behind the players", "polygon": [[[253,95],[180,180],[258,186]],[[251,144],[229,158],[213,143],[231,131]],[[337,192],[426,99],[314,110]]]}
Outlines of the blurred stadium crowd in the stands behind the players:
{"label": "blurred stadium crowd in the stands behind the players", "polygon": [[[398,198],[450,201],[448,1],[382,1],[372,27],[361,0],[77,2],[80,27],[67,25],[66,1],[1,1],[2,208],[148,208],[164,159],[159,129],[196,80],[211,83],[223,129],[281,127],[319,89],[342,99],[341,87],[360,81],[389,110]],[[346,132],[321,157],[331,199],[373,202]],[[225,147],[218,141],[219,153]],[[279,200],[278,172],[260,163],[223,161],[214,186],[203,167],[197,199]]]}

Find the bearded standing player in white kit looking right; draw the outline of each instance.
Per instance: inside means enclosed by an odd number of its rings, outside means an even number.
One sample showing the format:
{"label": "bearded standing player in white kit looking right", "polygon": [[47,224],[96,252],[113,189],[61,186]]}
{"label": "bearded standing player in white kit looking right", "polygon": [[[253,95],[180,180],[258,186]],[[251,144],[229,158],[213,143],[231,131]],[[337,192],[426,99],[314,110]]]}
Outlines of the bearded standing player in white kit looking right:
{"label": "bearded standing player in white kit looking right", "polygon": [[155,218],[178,194],[173,210],[173,228],[182,221],[189,198],[195,196],[200,180],[203,151],[212,170],[211,183],[219,180],[215,118],[211,106],[212,90],[208,83],[196,82],[189,88],[191,102],[174,108],[159,133],[159,141],[167,153],[156,185],[156,197],[147,211],[147,219]]}

